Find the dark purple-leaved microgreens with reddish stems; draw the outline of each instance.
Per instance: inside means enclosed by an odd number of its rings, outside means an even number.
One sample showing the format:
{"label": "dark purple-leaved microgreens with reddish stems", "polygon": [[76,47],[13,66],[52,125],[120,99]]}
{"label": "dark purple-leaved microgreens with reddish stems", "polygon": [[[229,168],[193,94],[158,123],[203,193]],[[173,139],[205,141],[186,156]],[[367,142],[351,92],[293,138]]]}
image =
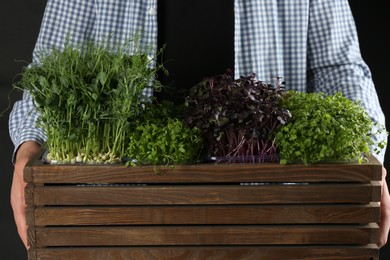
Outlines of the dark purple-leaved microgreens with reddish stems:
{"label": "dark purple-leaved microgreens with reddish stems", "polygon": [[274,133],[290,118],[280,105],[284,86],[255,76],[233,79],[225,73],[190,89],[187,122],[201,129],[209,157],[276,159]]}

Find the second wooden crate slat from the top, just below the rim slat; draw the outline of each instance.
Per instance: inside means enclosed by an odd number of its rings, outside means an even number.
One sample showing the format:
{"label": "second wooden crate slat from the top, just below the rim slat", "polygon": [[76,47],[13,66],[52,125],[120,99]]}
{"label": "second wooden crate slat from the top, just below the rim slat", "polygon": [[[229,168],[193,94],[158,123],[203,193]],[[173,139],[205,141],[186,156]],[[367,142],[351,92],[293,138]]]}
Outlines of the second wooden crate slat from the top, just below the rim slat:
{"label": "second wooden crate slat from the top, just below the rim slat", "polygon": [[42,186],[34,190],[41,205],[166,205],[363,203],[380,200],[380,184]]}

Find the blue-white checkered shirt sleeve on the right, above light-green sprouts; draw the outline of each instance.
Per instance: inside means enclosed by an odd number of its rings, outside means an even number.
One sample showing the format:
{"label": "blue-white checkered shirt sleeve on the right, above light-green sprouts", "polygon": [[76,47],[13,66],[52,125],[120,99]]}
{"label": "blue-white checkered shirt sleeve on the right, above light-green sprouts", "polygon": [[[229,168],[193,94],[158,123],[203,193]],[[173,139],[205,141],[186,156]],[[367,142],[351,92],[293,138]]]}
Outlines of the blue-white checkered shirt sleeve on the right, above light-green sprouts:
{"label": "blue-white checkered shirt sleeve on the right, above light-green sprouts", "polygon": [[[385,126],[371,72],[359,47],[355,21],[347,0],[311,1],[308,28],[309,91],[334,94],[361,101],[374,122]],[[373,137],[374,143],[387,141],[383,131]],[[376,155],[384,161],[385,149]]]}

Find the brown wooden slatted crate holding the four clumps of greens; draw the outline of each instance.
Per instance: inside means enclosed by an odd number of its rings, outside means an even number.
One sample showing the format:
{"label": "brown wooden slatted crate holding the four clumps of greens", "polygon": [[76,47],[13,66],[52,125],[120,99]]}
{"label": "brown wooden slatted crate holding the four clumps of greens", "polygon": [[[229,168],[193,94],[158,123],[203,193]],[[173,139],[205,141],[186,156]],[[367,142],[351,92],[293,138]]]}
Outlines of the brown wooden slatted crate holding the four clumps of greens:
{"label": "brown wooden slatted crate holding the four clumps of greens", "polygon": [[379,259],[381,165],[25,169],[29,259]]}

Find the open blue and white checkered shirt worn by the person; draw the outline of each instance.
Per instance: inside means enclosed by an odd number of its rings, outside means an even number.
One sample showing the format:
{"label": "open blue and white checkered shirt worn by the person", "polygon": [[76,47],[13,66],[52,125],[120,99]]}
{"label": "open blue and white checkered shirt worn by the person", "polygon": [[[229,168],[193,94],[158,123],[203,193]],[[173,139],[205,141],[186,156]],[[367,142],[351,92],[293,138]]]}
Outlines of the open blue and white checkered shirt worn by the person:
{"label": "open blue and white checkered shirt worn by the person", "polygon": [[[235,0],[234,12],[236,77],[255,72],[263,81],[283,76],[288,89],[342,91],[385,124],[347,0]],[[142,44],[156,45],[157,0],[48,0],[33,62],[43,50],[62,48],[68,35],[75,43],[107,36],[125,41],[139,31]],[[9,121],[15,151],[25,141],[45,141],[36,119],[24,93]]]}

